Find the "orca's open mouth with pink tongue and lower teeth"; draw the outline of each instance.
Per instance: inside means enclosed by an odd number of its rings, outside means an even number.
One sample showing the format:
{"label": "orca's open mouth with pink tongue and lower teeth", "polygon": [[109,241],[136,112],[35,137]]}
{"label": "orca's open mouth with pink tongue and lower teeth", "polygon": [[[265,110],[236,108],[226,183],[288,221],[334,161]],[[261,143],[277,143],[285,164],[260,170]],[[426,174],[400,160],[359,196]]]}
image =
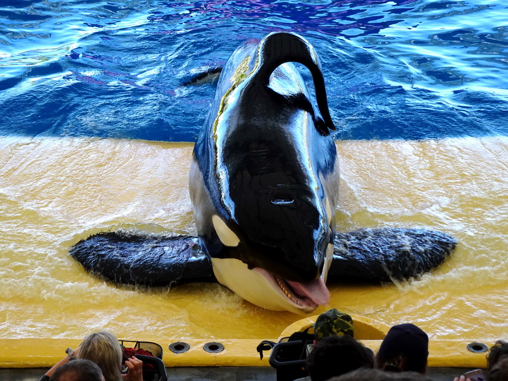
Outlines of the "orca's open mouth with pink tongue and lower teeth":
{"label": "orca's open mouth with pink tongue and lower teeth", "polygon": [[309,282],[294,282],[271,274],[259,267],[254,270],[263,275],[272,284],[274,291],[285,295],[289,301],[299,308],[313,310],[319,305],[328,304],[330,301],[330,293],[323,281],[323,277]]}

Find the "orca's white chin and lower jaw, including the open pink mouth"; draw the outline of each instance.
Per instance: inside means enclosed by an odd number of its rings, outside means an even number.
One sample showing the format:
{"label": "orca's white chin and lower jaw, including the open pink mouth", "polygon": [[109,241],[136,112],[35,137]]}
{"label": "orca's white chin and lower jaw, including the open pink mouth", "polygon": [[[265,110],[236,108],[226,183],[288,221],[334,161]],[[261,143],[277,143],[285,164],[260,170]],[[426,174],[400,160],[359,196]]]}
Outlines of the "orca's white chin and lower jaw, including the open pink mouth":
{"label": "orca's white chin and lower jaw, including the open pink mouth", "polygon": [[[327,256],[327,262],[329,258]],[[257,306],[275,311],[310,313],[326,305],[330,293],[325,285],[326,273],[310,282],[292,282],[259,267],[248,269],[240,260],[212,258],[215,277],[231,291]],[[325,270],[328,266],[325,264]]]}

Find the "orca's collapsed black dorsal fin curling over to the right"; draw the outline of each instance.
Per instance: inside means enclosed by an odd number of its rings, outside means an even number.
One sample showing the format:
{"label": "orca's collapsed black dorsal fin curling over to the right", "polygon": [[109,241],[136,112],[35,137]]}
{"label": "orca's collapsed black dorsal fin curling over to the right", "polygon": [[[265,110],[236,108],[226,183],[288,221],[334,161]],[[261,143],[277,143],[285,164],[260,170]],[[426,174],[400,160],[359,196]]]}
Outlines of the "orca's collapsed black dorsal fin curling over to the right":
{"label": "orca's collapsed black dorsal fin curling over to the right", "polygon": [[335,131],[328,100],[326,96],[325,79],[321,69],[321,62],[316,51],[305,39],[289,32],[274,32],[265,37],[259,45],[260,66],[258,75],[268,84],[273,71],[286,62],[298,62],[304,65],[312,75],[317,108],[321,118],[316,122],[317,128],[328,135],[328,129]]}

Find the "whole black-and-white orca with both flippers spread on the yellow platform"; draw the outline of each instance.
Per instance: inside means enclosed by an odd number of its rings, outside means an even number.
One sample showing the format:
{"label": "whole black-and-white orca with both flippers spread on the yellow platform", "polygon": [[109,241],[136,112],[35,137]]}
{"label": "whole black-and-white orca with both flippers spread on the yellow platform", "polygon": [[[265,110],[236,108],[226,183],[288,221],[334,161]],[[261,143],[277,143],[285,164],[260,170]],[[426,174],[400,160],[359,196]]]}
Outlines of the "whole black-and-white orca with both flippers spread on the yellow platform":
{"label": "whole black-and-white orca with both flippers spread on the yellow platform", "polygon": [[[315,102],[292,62],[310,72]],[[440,264],[456,245],[440,232],[385,228],[336,239],[333,130],[314,48],[286,32],[248,40],[221,70],[194,147],[198,239],[107,232],[71,255],[117,283],[217,280],[253,304],[295,313],[328,303],[328,276],[393,280]]]}

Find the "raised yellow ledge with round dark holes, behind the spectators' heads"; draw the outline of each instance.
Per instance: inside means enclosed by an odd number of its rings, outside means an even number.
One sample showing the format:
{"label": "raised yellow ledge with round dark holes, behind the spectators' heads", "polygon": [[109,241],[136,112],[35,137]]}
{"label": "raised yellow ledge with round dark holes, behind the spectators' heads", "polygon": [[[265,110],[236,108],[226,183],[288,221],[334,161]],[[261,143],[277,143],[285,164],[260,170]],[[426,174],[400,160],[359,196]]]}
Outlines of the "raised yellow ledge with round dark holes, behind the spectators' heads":
{"label": "raised yellow ledge with round dark holes, behind the spectators' heads", "polygon": [[[287,327],[277,339],[290,336],[293,332],[303,331],[310,327],[316,320],[317,315],[299,320]],[[359,315],[352,315],[355,327],[355,337],[372,351],[377,352],[390,327],[381,322],[368,319]],[[173,353],[168,350],[172,339],[145,338],[145,341],[156,342],[163,346],[163,361],[167,367],[188,366],[270,366],[268,363],[269,353],[265,353],[260,359],[256,347],[260,340],[256,339],[187,339],[184,342],[189,349],[183,353]],[[0,367],[5,368],[34,368],[51,367],[62,357],[67,347],[76,348],[81,339],[0,339],[0,345],[10,348],[2,356]],[[174,341],[173,341],[174,342]],[[224,349],[218,353],[205,351],[210,343],[219,343]],[[486,366],[485,353],[473,353],[467,349],[467,340],[430,340],[429,342],[429,367],[468,367],[484,368]],[[493,343],[485,343],[491,346]]]}

